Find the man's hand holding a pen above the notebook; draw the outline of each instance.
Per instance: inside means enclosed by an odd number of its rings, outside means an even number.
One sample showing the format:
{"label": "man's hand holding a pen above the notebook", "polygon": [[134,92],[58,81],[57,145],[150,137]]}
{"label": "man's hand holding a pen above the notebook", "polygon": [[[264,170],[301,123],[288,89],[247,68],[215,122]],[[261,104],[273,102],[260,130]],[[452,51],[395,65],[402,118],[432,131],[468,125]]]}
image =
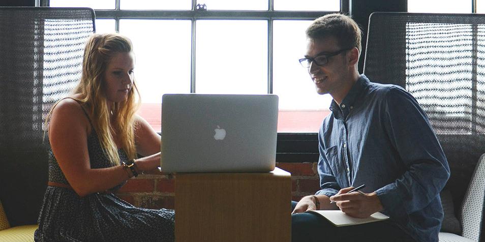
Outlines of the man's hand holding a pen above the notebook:
{"label": "man's hand holding a pen above the notebook", "polygon": [[347,193],[352,189],[353,187],[341,189],[335,196],[330,197],[345,214],[354,218],[367,218],[384,208],[376,192]]}

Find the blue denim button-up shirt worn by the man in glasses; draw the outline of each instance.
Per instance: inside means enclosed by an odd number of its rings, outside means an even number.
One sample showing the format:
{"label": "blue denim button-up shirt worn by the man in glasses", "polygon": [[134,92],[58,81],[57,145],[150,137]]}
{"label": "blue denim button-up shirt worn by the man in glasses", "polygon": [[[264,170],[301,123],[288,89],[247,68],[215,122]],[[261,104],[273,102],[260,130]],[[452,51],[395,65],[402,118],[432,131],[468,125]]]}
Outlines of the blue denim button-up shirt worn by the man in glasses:
{"label": "blue denim button-up shirt worn by the man in glasses", "polygon": [[443,150],[426,113],[406,90],[361,75],[319,132],[321,190],[365,184],[384,210],[417,241],[438,241],[443,219],[439,192],[449,177]]}

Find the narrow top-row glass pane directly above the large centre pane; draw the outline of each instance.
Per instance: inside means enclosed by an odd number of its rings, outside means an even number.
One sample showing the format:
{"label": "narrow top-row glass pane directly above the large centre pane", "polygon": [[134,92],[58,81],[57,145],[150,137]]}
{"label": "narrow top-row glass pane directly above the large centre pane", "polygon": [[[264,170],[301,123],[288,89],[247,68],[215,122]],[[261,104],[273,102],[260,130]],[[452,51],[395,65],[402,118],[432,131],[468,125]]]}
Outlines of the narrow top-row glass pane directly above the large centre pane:
{"label": "narrow top-row glass pane directly above the large centre pane", "polygon": [[199,0],[205,4],[207,10],[268,10],[268,0]]}

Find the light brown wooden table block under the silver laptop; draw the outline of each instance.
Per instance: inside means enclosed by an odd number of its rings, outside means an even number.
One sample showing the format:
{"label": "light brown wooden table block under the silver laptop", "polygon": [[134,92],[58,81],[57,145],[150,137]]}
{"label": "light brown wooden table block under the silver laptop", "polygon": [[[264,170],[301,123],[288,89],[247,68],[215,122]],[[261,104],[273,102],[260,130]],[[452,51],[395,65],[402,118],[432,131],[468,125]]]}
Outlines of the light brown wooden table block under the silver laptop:
{"label": "light brown wooden table block under the silver laptop", "polygon": [[178,173],[175,241],[290,241],[291,175]]}

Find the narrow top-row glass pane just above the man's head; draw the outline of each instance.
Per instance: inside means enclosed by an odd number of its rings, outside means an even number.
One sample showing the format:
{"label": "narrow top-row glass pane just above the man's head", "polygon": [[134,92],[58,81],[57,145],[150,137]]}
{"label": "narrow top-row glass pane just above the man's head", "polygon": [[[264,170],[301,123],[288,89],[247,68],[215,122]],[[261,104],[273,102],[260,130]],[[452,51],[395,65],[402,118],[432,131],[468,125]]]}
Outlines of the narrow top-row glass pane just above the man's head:
{"label": "narrow top-row glass pane just above the man's head", "polygon": [[275,10],[340,11],[340,0],[275,0]]}

